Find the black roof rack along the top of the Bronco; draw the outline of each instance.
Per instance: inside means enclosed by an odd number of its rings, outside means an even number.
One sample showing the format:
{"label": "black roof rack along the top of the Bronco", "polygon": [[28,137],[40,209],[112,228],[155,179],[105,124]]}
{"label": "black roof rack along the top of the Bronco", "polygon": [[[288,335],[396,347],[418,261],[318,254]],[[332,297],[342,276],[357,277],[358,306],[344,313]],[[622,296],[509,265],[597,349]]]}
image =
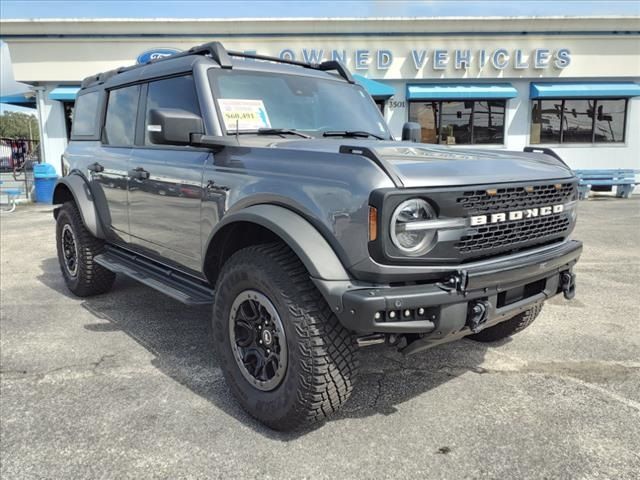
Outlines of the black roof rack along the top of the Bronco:
{"label": "black roof rack along the top of the Bronco", "polygon": [[239,57],[239,58],[250,58],[254,60],[265,60],[268,62],[286,63],[288,65],[297,65],[299,67],[312,68],[314,70],[321,70],[323,72],[336,71],[347,82],[355,83],[355,80],[351,76],[351,73],[349,72],[349,70],[347,70],[346,67],[337,60],[329,60],[321,63],[305,63],[305,62],[298,62],[296,60],[287,60],[284,58],[269,57],[267,55],[258,55],[255,53],[227,51],[222,45],[222,43],[209,42],[209,43],[204,43],[202,45],[192,47],[189,50],[185,50],[184,52],[174,53],[173,55],[168,55],[166,57],[149,60],[148,62],[140,65],[131,65],[130,67],[120,67],[115,70],[109,70],[108,72],[92,75],[90,77],[85,78],[82,81],[82,85],[80,88],[87,88],[89,86],[104,83],[109,78],[119,73],[128,72],[136,68],[142,68],[150,64],[164,62],[167,60],[173,60],[175,58],[188,57],[190,55],[209,55],[213,60],[215,60],[218,63],[218,65],[220,65],[220,68],[229,68],[229,69],[233,68],[233,64],[231,63],[231,57]]}

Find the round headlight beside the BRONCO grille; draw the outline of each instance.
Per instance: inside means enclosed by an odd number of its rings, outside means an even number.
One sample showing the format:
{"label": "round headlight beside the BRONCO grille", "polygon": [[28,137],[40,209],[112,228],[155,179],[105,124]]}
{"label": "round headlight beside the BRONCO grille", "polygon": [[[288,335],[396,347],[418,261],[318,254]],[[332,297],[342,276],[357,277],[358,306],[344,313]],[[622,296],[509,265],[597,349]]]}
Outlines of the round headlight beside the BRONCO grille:
{"label": "round headlight beside the BRONCO grille", "polygon": [[418,256],[425,253],[436,236],[436,230],[411,230],[407,225],[436,218],[436,212],[421,198],[405,200],[391,216],[391,240],[404,254]]}

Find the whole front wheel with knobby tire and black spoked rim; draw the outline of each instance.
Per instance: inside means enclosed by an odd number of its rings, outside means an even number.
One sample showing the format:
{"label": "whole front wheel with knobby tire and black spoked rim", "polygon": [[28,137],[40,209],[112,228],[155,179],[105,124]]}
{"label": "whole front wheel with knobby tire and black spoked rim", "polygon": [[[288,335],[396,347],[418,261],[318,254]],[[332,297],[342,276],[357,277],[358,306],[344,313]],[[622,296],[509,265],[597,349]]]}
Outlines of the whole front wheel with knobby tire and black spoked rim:
{"label": "whole front wheel with knobby tire and black spoked rim", "polygon": [[232,392],[273,429],[321,421],[351,394],[354,339],[284,244],[248,247],[227,261],[213,336]]}

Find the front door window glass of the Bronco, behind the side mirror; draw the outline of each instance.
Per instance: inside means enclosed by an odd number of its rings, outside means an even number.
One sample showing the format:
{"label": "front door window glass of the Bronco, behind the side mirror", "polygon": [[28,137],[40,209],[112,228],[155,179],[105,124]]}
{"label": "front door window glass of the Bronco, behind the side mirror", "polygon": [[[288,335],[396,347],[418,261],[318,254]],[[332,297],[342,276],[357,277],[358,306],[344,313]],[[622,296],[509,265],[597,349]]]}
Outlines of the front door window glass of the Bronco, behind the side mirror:
{"label": "front door window glass of the Bronco, behind the side mirror", "polygon": [[153,145],[149,139],[147,125],[149,125],[149,112],[154,108],[178,108],[200,116],[200,105],[193,76],[167,78],[149,83],[144,122],[145,145]]}

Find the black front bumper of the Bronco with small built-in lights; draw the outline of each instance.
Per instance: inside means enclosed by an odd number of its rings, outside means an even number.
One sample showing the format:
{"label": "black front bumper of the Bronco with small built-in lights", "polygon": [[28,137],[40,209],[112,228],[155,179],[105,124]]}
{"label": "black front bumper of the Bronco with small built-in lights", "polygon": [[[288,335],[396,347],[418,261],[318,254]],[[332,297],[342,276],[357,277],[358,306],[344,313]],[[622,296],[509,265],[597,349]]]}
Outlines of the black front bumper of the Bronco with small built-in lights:
{"label": "black front bumper of the Bronco with small built-in lights", "polygon": [[499,261],[460,266],[443,282],[354,288],[342,294],[337,315],[358,333],[427,334],[433,343],[453,340],[477,331],[471,317],[478,303],[486,310],[482,318],[486,327],[558,293],[571,297],[571,269],[581,252],[582,243],[571,240]]}

